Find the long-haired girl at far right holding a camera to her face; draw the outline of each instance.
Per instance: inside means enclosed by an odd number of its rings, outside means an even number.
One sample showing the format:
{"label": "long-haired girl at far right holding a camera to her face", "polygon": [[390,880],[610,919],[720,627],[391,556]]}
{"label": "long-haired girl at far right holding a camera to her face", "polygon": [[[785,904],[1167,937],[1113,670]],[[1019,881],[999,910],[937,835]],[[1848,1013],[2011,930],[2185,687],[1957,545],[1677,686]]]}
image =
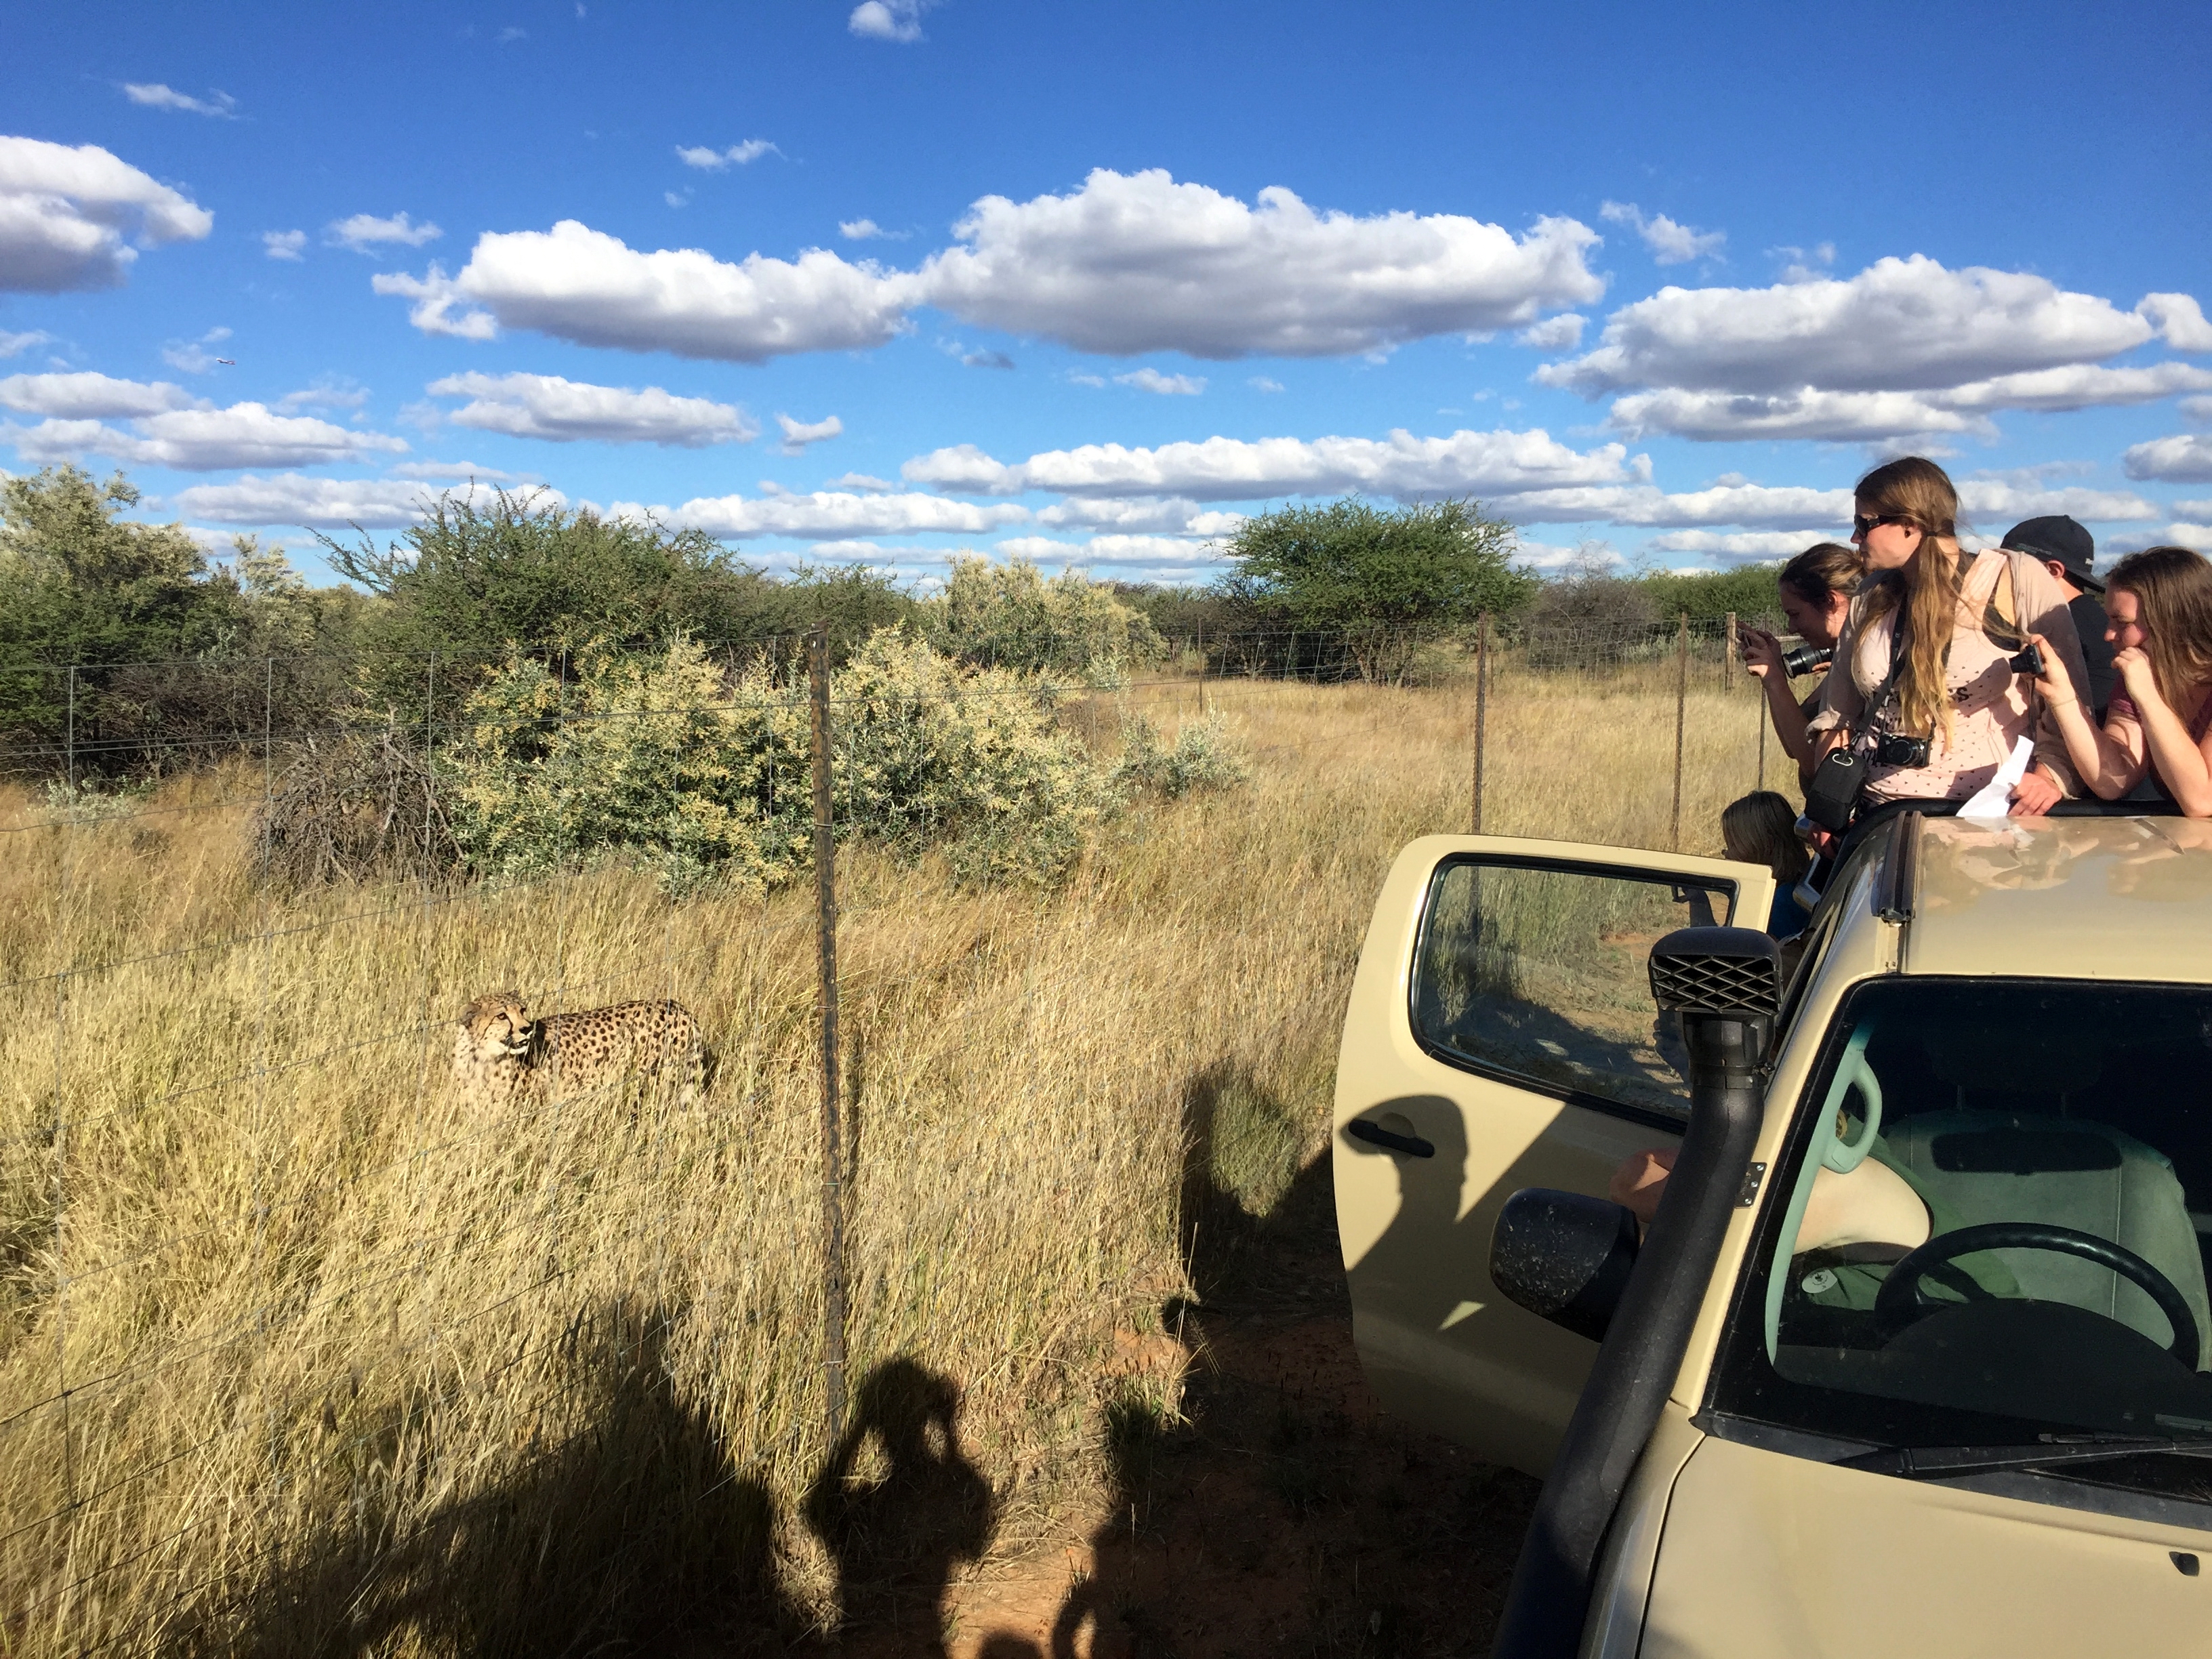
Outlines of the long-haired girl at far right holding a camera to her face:
{"label": "long-haired girl at far right holding a camera to her face", "polygon": [[2119,688],[2104,728],[2073,688],[2044,675],[2081,783],[2106,801],[2163,796],[2190,818],[2212,818],[2212,560],[2185,546],[2130,553],[2106,577],[2104,637]]}

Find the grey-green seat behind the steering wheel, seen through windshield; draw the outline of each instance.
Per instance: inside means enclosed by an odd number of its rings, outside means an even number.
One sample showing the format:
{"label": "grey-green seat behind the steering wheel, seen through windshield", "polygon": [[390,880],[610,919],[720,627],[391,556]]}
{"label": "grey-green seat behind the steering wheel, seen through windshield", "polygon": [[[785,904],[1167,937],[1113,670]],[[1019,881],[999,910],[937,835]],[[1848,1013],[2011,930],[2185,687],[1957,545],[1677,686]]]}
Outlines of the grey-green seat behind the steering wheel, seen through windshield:
{"label": "grey-green seat behind the steering wheel, seen through windshield", "polygon": [[[2028,1113],[1920,1113],[1882,1124],[1889,1159],[1951,1206],[1960,1225],[2046,1221],[2110,1239],[2170,1281],[2197,1314],[2212,1369],[2212,1298],[2197,1225],[2181,1181],[2163,1152],[2108,1124]],[[2159,1347],[2172,1340],[2166,1316],[2110,1267],[2053,1250],[1997,1250],[2037,1301],[2070,1303],[2117,1318]]]}

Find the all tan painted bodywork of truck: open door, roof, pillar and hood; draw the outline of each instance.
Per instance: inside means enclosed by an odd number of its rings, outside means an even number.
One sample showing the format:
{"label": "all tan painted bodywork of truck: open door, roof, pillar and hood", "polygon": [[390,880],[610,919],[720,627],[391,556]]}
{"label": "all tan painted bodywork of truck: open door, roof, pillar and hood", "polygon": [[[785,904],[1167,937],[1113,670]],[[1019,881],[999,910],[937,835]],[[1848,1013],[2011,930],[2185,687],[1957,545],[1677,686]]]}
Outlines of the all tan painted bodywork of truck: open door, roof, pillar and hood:
{"label": "all tan painted bodywork of truck: open door, roof, pillar and hood", "polygon": [[[1422,894],[1440,858],[1471,849],[1705,878],[1747,867],[1433,836],[1400,854],[1376,902],[1345,1020],[1334,1141],[1347,1276],[1356,1287],[1369,1276],[1369,1303],[1374,1281],[1396,1287],[1394,1318],[1356,1312],[1363,1360],[1391,1411],[1542,1473],[1597,1347],[1491,1287],[1498,1206],[1524,1186],[1604,1192],[1613,1164],[1663,1133],[1478,1077],[1413,1042],[1407,1006]],[[1916,916],[1902,927],[1876,916],[1880,858],[1860,860],[1851,889],[1832,898],[1834,931],[1816,945],[1809,982],[1794,991],[1754,1161],[1778,1168],[1836,1009],[1863,980],[2212,982],[2208,854],[2212,823],[2179,818],[1924,818]],[[1739,920],[1767,902],[1770,889],[1741,887]],[[1425,1110],[1418,1126],[1438,1141],[1438,1159],[1376,1157],[1343,1135],[1352,1117],[1383,1110]],[[2212,1573],[2185,1575],[2174,1559],[2212,1555],[2212,1528],[1834,1469],[1692,1425],[1754,1219],[1772,1197],[1765,1183],[1730,1223],[1672,1398],[1615,1515],[1584,1657],[2212,1652]],[[1455,1225],[1413,1230],[1407,1243],[1431,1245],[1411,1252],[1394,1243],[1407,1210]],[[1411,1352],[1409,1332],[1431,1314],[1447,1325],[1444,1343]]]}

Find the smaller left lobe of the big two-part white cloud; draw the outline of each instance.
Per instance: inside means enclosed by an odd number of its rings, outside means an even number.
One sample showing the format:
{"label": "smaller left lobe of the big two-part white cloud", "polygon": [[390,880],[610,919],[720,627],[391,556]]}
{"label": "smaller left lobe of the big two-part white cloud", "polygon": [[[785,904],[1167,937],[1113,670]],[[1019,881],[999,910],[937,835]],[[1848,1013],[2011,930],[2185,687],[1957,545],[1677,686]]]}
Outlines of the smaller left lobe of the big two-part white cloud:
{"label": "smaller left lobe of the big two-part white cloud", "polygon": [[[425,279],[387,274],[374,288],[414,299],[409,321],[425,334],[491,338],[518,327],[732,363],[883,345],[914,303],[911,276],[823,248],[732,265],[697,248],[637,252],[575,219],[484,234],[451,279],[431,265]],[[456,316],[456,305],[476,310]]]}

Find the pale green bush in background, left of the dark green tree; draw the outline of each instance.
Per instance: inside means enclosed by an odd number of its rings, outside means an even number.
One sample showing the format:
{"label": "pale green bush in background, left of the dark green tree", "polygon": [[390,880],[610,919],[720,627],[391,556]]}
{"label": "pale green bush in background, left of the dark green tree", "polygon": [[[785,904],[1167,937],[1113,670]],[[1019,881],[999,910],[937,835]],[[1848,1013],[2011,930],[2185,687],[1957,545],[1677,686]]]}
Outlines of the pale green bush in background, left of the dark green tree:
{"label": "pale green bush in background, left of the dark green tree", "polygon": [[1168,641],[1106,582],[1075,571],[1046,577],[1029,560],[991,564],[956,553],[945,593],[920,606],[922,630],[947,657],[975,668],[1055,672],[1117,686],[1128,668],[1157,661]]}

